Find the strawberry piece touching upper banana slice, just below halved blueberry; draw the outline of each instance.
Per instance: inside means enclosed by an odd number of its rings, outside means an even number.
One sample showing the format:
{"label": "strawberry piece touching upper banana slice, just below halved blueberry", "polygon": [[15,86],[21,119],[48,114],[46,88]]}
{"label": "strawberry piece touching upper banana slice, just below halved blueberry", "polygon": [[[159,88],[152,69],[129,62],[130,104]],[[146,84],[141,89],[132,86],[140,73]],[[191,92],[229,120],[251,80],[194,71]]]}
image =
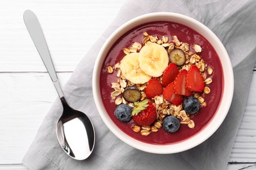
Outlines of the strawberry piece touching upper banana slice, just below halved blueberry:
{"label": "strawberry piece touching upper banana slice, just below halved blueberry", "polygon": [[161,80],[163,86],[167,86],[175,80],[175,77],[179,74],[179,69],[175,63],[170,63],[169,66],[163,71],[163,78]]}

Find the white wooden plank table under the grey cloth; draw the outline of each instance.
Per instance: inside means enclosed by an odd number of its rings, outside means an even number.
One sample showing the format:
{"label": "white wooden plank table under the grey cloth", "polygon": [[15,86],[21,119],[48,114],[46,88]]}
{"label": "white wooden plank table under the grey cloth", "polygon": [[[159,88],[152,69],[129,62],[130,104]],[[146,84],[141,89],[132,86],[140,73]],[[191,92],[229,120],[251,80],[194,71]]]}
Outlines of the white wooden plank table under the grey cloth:
{"label": "white wooden plank table under the grey cloth", "polygon": [[[57,97],[24,25],[24,10],[37,14],[64,85],[123,1],[0,1],[0,169],[26,169],[22,158]],[[228,169],[256,169],[255,95],[256,69]]]}

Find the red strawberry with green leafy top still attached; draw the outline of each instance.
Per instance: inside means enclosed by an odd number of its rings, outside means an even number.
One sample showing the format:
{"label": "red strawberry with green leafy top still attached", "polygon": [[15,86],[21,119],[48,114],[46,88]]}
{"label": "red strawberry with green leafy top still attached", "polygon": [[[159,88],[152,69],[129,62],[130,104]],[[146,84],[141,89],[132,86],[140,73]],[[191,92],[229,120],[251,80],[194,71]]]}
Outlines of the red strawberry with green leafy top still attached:
{"label": "red strawberry with green leafy top still attached", "polygon": [[140,126],[150,126],[156,120],[156,107],[148,99],[135,102],[135,107],[131,115],[133,116],[133,120]]}

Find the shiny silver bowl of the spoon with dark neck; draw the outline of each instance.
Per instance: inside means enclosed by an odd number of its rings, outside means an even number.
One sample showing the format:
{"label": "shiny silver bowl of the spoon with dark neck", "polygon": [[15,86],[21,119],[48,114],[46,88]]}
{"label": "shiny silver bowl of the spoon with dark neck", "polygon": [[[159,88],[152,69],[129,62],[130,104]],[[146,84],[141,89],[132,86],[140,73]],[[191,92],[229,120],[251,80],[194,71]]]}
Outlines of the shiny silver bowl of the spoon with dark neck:
{"label": "shiny silver bowl of the spoon with dark neck", "polygon": [[90,156],[95,144],[93,124],[86,114],[72,109],[64,97],[60,100],[63,113],[56,124],[58,143],[66,154],[75,160],[85,160]]}

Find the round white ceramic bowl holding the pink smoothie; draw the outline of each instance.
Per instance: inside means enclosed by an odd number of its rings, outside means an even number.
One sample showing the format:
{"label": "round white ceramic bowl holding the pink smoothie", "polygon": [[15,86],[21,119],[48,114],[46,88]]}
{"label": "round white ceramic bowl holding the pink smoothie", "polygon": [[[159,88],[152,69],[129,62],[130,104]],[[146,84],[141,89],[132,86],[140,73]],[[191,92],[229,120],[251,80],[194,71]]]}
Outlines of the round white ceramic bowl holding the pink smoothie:
{"label": "round white ceramic bowl holding the pink smoothie", "polygon": [[[213,116],[209,124],[207,124],[207,126],[204,127],[199,133],[196,133],[196,135],[190,137],[189,139],[186,139],[184,141],[181,141],[179,143],[174,143],[174,144],[161,145],[161,144],[143,143],[125,134],[123,131],[121,131],[121,129],[119,129],[116,126],[116,124],[114,124],[114,122],[108,116],[108,113],[106,112],[104,105],[102,103],[100,90],[99,90],[100,70],[102,67],[102,63],[104,61],[104,58],[106,57],[108,50],[110,50],[110,47],[114,44],[114,42],[116,42],[117,39],[121,37],[121,35],[123,35],[123,33],[125,33],[126,31],[129,31],[129,29],[132,29],[137,25],[145,24],[148,22],[155,22],[155,21],[177,22],[179,24],[186,25],[196,30],[203,37],[205,37],[207,41],[211,43],[213,48],[215,48],[217,54],[219,55],[219,58],[221,60],[221,64],[223,67],[223,78],[224,78],[223,97],[221,99],[219,109],[217,109],[217,112],[215,113],[215,116]],[[234,76],[232,71],[232,65],[230,63],[230,58],[228,57],[228,54],[223,44],[221,43],[221,41],[218,39],[218,37],[208,27],[198,22],[197,20],[194,20],[193,18],[184,16],[182,14],[176,14],[176,13],[170,13],[170,12],[156,12],[151,14],[145,14],[143,16],[134,18],[133,20],[130,20],[129,22],[126,22],[125,24],[121,25],[121,27],[116,29],[116,31],[112,33],[112,35],[108,38],[108,40],[102,46],[98,54],[98,58],[96,59],[95,67],[93,71],[93,97],[95,99],[98,112],[102,120],[106,124],[106,126],[108,126],[108,128],[112,131],[112,133],[114,133],[123,142],[139,150],[143,150],[145,152],[152,152],[156,154],[171,154],[176,152],[182,152],[184,150],[193,148],[194,146],[197,146],[200,143],[203,143],[203,141],[205,141],[211,135],[213,135],[213,133],[219,128],[219,126],[221,126],[224,118],[226,117],[226,114],[228,113],[228,109],[230,108],[230,104],[232,101],[233,90],[234,90]]]}

